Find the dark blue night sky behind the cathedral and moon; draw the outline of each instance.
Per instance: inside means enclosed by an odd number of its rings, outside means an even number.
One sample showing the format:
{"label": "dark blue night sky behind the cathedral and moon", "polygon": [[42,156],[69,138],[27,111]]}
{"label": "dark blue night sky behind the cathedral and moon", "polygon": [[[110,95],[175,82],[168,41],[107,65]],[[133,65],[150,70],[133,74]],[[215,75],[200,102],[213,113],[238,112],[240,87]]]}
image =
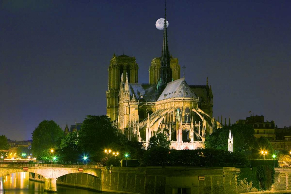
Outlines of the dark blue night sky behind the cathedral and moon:
{"label": "dark blue night sky behind the cathedral and moon", "polygon": [[[108,66],[135,56],[148,83],[162,51],[164,1],[0,1],[0,135],[31,139],[42,120],[106,114]],[[291,1],[167,1],[169,51],[188,84],[213,91],[213,116],[291,124]],[[181,76],[183,69],[181,68]]]}

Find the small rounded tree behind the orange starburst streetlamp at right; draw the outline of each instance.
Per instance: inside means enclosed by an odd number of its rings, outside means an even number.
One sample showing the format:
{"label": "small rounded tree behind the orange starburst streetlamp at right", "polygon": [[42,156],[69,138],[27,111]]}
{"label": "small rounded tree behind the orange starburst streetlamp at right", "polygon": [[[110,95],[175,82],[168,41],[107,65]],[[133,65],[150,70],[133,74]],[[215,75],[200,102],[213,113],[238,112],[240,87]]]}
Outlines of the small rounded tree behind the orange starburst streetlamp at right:
{"label": "small rounded tree behind the orange starburst streetlamp at right", "polygon": [[252,149],[253,158],[263,159],[264,155],[261,153],[262,151],[267,151],[267,154],[265,154],[265,159],[272,159],[272,155],[274,154],[274,148],[270,141],[263,136],[258,138],[254,144],[254,147]]}

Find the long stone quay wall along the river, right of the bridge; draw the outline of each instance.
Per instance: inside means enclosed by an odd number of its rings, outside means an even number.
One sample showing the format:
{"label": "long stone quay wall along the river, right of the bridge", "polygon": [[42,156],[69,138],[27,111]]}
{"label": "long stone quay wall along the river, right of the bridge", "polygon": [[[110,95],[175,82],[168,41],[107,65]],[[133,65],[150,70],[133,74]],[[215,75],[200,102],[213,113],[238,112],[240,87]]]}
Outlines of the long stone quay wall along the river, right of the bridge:
{"label": "long stone quay wall along the river, right of the bridge", "polygon": [[[271,192],[291,192],[291,168],[275,168],[275,183]],[[251,185],[237,186],[239,168],[233,167],[112,167],[103,168],[101,178],[86,173],[72,173],[58,177],[57,184],[88,188],[96,191],[133,194],[187,194],[249,193]],[[35,175],[30,180],[43,181]],[[290,185],[290,186],[289,186]],[[251,192],[258,192],[251,189]],[[265,192],[264,192],[265,193]]]}

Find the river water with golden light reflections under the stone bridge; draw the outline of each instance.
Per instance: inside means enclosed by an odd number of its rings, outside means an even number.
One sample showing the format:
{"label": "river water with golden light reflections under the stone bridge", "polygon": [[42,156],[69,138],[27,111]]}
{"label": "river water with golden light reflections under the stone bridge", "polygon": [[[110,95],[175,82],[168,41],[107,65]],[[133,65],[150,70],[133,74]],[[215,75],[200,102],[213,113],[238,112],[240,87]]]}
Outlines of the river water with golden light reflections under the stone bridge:
{"label": "river water with golden light reflections under the stone bridge", "polygon": [[[46,193],[44,192],[44,183],[29,181],[29,172],[17,172],[0,177],[0,194],[34,194],[34,193]],[[57,194],[91,194],[98,193],[94,191],[88,191],[85,189],[77,189],[72,187],[57,186]],[[104,193],[110,194],[110,193]],[[111,193],[112,194],[112,193]]]}

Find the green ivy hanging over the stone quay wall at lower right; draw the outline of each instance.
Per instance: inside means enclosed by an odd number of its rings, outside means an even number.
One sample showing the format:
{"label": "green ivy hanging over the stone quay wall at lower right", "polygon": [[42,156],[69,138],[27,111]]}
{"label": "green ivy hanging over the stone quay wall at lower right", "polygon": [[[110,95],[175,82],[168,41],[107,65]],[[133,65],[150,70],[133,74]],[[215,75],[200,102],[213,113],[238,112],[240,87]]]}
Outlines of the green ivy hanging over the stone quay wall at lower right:
{"label": "green ivy hanging over the stone quay wall at lower right", "polygon": [[237,175],[237,186],[243,184],[251,185],[258,191],[270,190],[275,181],[275,169],[271,165],[258,165],[253,168],[242,168]]}

